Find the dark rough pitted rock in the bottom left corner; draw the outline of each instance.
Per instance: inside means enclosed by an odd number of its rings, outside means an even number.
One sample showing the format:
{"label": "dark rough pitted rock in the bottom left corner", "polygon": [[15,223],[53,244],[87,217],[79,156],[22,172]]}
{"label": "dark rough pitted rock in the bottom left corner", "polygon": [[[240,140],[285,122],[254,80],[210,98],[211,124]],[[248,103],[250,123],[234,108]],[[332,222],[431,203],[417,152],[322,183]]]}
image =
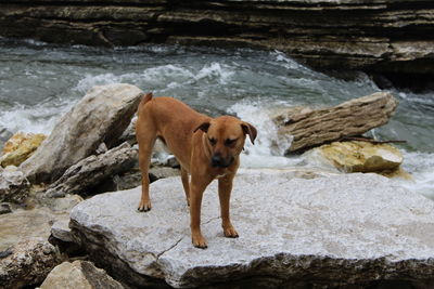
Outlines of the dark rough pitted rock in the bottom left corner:
{"label": "dark rough pitted rock in the bottom left corner", "polygon": [[23,288],[40,284],[62,262],[54,246],[43,240],[24,240],[0,258],[2,288]]}

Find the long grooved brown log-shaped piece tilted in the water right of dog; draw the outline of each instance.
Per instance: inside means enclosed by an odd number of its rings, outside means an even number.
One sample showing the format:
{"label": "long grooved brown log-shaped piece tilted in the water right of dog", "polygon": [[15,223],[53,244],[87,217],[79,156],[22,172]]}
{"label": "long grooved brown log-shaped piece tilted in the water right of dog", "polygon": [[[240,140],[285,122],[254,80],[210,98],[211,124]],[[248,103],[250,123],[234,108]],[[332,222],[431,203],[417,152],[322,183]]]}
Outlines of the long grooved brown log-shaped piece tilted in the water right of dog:
{"label": "long grooved brown log-shaped piece tilted in the water right of dog", "polygon": [[280,135],[291,135],[285,154],[306,150],[345,136],[357,136],[388,122],[398,101],[388,92],[354,98],[317,110],[290,109],[275,118]]}

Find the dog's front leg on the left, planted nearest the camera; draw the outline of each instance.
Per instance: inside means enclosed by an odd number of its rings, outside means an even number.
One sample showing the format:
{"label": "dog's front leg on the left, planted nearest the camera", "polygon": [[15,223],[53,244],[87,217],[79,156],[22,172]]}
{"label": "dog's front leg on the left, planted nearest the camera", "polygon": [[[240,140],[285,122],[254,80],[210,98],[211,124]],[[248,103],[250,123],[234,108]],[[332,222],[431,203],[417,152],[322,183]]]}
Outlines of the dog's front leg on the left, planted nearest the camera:
{"label": "dog's front leg on the left, planted nearest the camera", "polygon": [[194,247],[205,249],[207,248],[206,240],[201,232],[201,206],[202,196],[206,186],[210,183],[208,180],[194,178],[192,175],[190,183],[190,228],[191,240]]}

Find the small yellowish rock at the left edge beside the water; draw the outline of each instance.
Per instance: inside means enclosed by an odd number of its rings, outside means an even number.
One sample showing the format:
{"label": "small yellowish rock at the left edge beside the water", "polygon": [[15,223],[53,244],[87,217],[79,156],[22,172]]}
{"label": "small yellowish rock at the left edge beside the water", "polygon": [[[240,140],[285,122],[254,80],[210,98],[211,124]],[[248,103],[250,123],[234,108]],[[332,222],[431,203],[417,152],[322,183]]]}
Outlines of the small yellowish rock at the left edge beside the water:
{"label": "small yellowish rock at the left edge beside the water", "polygon": [[15,133],[4,144],[0,165],[3,168],[8,166],[20,166],[35,153],[46,137],[47,136],[42,133]]}

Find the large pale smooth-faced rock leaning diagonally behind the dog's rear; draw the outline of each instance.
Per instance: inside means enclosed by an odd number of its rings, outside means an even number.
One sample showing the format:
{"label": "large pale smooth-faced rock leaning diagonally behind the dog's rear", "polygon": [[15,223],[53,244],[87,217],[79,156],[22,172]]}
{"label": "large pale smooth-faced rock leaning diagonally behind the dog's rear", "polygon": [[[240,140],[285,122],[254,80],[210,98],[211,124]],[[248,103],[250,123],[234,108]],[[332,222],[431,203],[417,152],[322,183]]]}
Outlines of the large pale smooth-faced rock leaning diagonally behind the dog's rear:
{"label": "large pale smooth-faced rock leaning diagonally behind the dog's rear", "polygon": [[92,88],[21,169],[33,183],[53,182],[94,154],[101,143],[111,147],[130,122],[141,95],[137,87],[123,83]]}

